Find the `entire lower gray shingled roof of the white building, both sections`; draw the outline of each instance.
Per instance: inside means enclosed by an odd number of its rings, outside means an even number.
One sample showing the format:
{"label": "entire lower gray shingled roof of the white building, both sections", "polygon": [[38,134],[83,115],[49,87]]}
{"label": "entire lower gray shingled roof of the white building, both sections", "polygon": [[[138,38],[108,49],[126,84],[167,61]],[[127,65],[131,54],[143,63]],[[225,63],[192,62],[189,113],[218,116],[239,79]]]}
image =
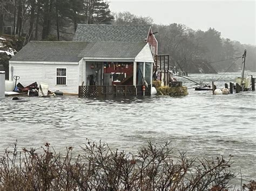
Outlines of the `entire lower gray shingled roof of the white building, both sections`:
{"label": "entire lower gray shingled roof of the white building, both sections", "polygon": [[10,61],[78,62],[90,58],[135,58],[147,43],[30,41]]}

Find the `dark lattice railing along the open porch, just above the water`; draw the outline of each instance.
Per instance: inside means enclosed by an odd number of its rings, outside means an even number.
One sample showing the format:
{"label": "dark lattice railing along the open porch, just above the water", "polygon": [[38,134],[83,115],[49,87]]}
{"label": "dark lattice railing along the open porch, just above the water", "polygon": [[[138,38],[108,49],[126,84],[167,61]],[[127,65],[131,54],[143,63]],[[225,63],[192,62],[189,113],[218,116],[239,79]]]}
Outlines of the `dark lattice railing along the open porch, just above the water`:
{"label": "dark lattice railing along the open porch, just above the water", "polygon": [[134,86],[79,86],[78,97],[114,98],[136,96]]}

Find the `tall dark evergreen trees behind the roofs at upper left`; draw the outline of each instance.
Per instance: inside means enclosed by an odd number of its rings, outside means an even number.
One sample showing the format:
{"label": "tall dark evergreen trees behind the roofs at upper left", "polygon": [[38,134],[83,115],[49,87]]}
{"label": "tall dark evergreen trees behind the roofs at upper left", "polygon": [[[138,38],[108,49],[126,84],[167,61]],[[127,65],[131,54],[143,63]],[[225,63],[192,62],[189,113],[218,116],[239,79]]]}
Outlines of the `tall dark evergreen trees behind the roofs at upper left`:
{"label": "tall dark evergreen trees behind the roofs at upper left", "polygon": [[97,0],[2,0],[0,31],[4,20],[12,24],[12,34],[29,40],[60,40],[60,32],[78,23],[109,23],[109,4]]}

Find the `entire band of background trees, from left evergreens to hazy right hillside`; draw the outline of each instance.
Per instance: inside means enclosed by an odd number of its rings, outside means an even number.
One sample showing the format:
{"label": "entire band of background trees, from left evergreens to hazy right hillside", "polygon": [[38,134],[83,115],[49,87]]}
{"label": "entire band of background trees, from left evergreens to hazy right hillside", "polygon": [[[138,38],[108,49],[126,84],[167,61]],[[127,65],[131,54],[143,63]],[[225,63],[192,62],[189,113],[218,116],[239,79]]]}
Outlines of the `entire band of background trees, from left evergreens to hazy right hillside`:
{"label": "entire band of background trees, from left evergreens to hazy right hillside", "polygon": [[[154,24],[151,17],[130,12],[113,13],[109,3],[98,0],[2,0],[0,31],[3,21],[13,26],[12,34],[30,40],[72,40],[78,23],[85,24],[149,24],[158,32],[159,54],[170,54],[171,64],[184,69],[185,63],[209,63],[219,72],[241,68],[236,58],[247,49],[246,69],[256,71],[256,47],[221,37],[210,27],[207,31],[192,30],[183,24]],[[2,26],[1,26],[2,25]],[[235,62],[234,62],[235,61]],[[192,72],[192,71],[187,71]]]}

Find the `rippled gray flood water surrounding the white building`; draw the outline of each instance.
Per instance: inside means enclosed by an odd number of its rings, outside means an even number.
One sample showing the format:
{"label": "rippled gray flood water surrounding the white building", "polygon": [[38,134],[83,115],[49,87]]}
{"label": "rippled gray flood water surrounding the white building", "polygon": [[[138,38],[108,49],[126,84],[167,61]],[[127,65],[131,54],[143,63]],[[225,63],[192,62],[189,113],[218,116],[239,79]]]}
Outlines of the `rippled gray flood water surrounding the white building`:
{"label": "rippled gray flood water surrounding the white building", "polygon": [[[256,73],[250,73],[256,76]],[[215,84],[235,82],[240,73],[227,73]],[[190,74],[194,81],[211,83],[220,74]],[[194,83],[181,79],[186,86]],[[11,97],[0,101],[0,155],[18,140],[19,148],[49,142],[57,151],[90,140],[135,153],[149,139],[170,140],[175,150],[211,158],[234,155],[233,172],[245,181],[256,178],[256,91],[213,96],[189,90],[185,97],[151,96],[131,100],[91,100],[74,96]],[[234,183],[240,185],[239,177]]]}

